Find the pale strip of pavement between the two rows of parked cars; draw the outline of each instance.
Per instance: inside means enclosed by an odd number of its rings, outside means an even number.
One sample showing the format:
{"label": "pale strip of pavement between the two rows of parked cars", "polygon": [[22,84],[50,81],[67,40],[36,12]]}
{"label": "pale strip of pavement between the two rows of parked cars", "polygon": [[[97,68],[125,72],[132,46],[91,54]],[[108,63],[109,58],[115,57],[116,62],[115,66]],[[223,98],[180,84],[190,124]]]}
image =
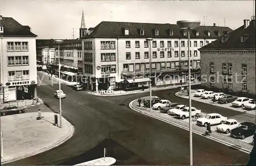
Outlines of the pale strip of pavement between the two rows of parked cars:
{"label": "pale strip of pavement between the two rows of parked cars", "polygon": [[[239,112],[242,112],[242,113],[247,113],[247,114],[254,115],[252,118],[254,119],[254,123],[255,123],[255,110],[248,110],[248,109],[241,108],[241,107],[234,107],[234,106],[232,106],[231,103],[219,104],[218,102],[216,102],[216,104],[214,104],[214,103],[212,103],[211,99],[201,99],[201,97],[194,97],[195,92],[196,92],[196,90],[191,90],[191,100],[203,102],[203,103],[210,104],[210,105],[217,105],[217,106],[220,106],[220,107],[233,109],[233,110],[236,110],[236,111],[239,111]],[[182,98],[188,99],[188,96],[186,95],[186,93],[181,95],[181,92],[177,92],[175,95],[177,97],[182,97]]]}

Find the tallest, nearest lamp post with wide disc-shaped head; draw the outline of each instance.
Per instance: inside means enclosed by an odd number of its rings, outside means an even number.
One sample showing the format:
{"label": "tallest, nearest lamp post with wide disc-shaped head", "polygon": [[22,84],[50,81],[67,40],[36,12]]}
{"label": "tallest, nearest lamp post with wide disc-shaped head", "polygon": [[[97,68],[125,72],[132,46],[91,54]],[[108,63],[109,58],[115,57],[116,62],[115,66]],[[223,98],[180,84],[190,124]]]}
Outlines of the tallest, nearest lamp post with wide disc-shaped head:
{"label": "tallest, nearest lamp post with wide disc-shaped head", "polygon": [[190,76],[190,29],[196,29],[200,25],[199,20],[182,20],[177,21],[180,29],[187,29],[188,38],[188,98],[189,98],[189,152],[190,152],[190,165],[193,165],[193,141],[192,141],[192,121],[191,121],[191,76]]}

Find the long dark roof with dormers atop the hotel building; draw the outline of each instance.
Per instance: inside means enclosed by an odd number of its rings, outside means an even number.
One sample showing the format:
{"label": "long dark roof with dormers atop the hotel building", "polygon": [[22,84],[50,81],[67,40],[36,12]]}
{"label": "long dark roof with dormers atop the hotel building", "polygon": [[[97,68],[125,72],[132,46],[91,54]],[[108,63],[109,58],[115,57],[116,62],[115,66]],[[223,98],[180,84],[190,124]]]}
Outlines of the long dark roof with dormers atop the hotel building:
{"label": "long dark roof with dormers atop the hotel building", "polygon": [[[129,35],[124,35],[124,29],[129,30]],[[140,30],[144,30],[144,35],[140,35]],[[159,35],[155,36],[155,30],[159,31]],[[173,36],[169,35],[169,31],[173,31]],[[185,30],[186,31],[186,30]],[[196,36],[196,32],[199,32],[199,36]],[[208,36],[208,31],[211,32],[211,36]],[[219,38],[218,32],[223,35],[223,32],[227,33],[232,30],[229,27],[223,26],[200,26],[198,29],[190,30],[191,38]],[[95,37],[125,37],[125,38],[187,38],[183,36],[183,30],[178,27],[177,24],[161,24],[161,23],[136,23],[136,22],[111,22],[102,21],[95,26],[94,31],[81,39],[95,38]]]}

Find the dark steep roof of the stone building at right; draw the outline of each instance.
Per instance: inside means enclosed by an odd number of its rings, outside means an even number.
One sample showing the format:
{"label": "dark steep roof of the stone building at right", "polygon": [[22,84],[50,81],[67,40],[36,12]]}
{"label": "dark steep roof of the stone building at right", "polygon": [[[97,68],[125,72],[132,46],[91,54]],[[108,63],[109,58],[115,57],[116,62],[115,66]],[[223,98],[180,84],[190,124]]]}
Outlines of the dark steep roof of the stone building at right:
{"label": "dark steep roof of the stone building at right", "polygon": [[[241,42],[241,36],[247,37],[244,42]],[[222,39],[217,39],[199,50],[205,49],[255,49],[255,20],[251,20],[249,25],[244,28],[244,25],[230,32],[226,37],[226,41],[222,43]]]}

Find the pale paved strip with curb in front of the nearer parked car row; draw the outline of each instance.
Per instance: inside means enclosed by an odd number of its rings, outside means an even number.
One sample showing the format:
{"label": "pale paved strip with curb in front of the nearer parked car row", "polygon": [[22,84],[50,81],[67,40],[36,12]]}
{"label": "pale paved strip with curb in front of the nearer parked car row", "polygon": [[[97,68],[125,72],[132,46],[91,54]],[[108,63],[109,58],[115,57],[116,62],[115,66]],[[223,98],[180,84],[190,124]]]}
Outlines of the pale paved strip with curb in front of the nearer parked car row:
{"label": "pale paved strip with curb in front of the nearer parked car row", "polygon": [[[145,96],[145,97],[141,97],[141,99],[142,98],[149,99],[150,97]],[[156,111],[154,109],[152,109],[151,112],[150,112],[149,108],[139,106],[137,101],[138,101],[138,99],[133,100],[129,104],[130,108],[135,110],[136,112],[140,112],[144,115],[150,116],[152,118],[156,118],[158,120],[169,123],[171,125],[183,128],[185,130],[189,130],[189,123],[186,121],[186,119],[185,120],[177,119],[177,118],[174,118],[173,116],[163,114],[163,113],[161,113],[159,111]],[[234,139],[234,138],[230,137],[229,135],[225,135],[225,134],[219,133],[217,131],[212,131],[210,136],[206,136],[205,135],[205,130],[206,130],[205,127],[198,126],[194,122],[193,132],[196,133],[196,134],[208,137],[211,140],[222,143],[222,144],[224,144],[226,146],[229,146],[231,148],[241,150],[241,151],[243,151],[245,153],[248,153],[248,154],[251,152],[251,150],[253,148],[252,145],[250,145],[246,142],[243,142],[243,141],[238,140],[238,139]]]}

